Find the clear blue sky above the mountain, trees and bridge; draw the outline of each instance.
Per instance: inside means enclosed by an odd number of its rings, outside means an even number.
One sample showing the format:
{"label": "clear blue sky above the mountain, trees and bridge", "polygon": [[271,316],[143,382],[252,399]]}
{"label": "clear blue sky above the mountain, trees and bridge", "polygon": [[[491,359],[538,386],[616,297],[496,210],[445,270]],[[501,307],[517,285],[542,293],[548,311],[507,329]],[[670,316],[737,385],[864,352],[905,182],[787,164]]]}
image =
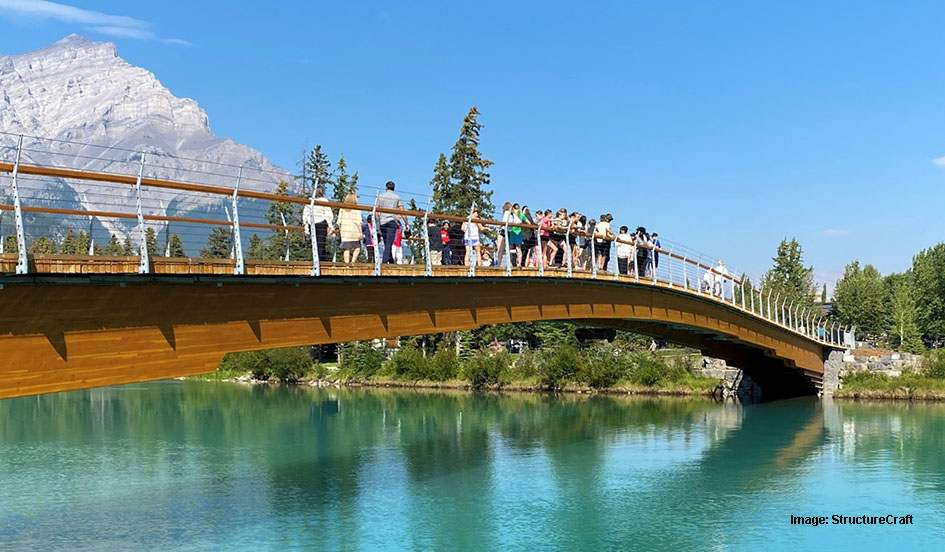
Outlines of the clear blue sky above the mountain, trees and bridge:
{"label": "clear blue sky above the mountain, trees and bridge", "polygon": [[426,192],[476,105],[499,204],[610,211],[750,273],[796,236],[828,282],[945,239],[940,0],[0,0],[0,20],[3,54],[114,41],[287,168],[320,143]]}

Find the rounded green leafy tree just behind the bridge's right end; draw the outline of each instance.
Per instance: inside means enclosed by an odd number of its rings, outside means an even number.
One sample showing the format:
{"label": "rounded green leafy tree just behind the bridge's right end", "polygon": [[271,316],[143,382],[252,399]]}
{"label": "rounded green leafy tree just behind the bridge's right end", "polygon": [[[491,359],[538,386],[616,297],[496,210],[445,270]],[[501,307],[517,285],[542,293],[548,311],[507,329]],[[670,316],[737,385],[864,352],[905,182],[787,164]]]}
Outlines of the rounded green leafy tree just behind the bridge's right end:
{"label": "rounded green leafy tree just behind the bridge's right end", "polygon": [[886,289],[883,277],[872,265],[860,268],[859,261],[848,264],[837,280],[833,304],[837,320],[844,326],[856,326],[870,335],[886,327]]}

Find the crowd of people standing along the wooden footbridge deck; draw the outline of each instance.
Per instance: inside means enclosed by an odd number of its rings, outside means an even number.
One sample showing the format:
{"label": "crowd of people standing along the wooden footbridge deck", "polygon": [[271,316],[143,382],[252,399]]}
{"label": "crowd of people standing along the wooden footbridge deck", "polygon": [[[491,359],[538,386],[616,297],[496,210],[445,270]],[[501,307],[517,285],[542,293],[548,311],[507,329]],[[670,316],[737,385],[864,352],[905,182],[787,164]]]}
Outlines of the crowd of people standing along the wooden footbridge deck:
{"label": "crowd of people standing along the wooden footbridge deck", "polygon": [[[407,216],[384,212],[404,209],[404,202],[395,189],[394,182],[387,182],[384,193],[378,196],[377,221],[370,214],[364,220],[361,210],[345,208],[339,209],[337,218],[333,219],[324,190],[317,190],[313,206],[305,206],[302,218],[306,233],[313,234],[318,241],[319,258],[327,260],[327,238],[337,233],[345,263],[357,262],[362,251],[368,262],[374,262],[374,255],[379,251],[382,263],[403,263],[404,242],[410,238]],[[351,193],[344,203],[356,205],[357,201],[357,196]],[[640,277],[648,278],[659,268],[659,235],[647,232],[642,226],[633,232],[628,226],[621,226],[615,232],[614,217],[610,213],[588,219],[565,208],[539,209],[533,213],[527,205],[506,202],[500,220],[508,223],[508,237],[505,227],[493,229],[497,231],[496,238],[490,240],[494,247],[484,243],[487,228],[476,222],[479,212],[474,209],[470,215],[462,222],[428,219],[426,230],[432,264],[504,266],[509,263],[517,268],[567,268],[570,262],[578,270],[594,267],[607,270],[613,250],[620,274],[639,273]]]}

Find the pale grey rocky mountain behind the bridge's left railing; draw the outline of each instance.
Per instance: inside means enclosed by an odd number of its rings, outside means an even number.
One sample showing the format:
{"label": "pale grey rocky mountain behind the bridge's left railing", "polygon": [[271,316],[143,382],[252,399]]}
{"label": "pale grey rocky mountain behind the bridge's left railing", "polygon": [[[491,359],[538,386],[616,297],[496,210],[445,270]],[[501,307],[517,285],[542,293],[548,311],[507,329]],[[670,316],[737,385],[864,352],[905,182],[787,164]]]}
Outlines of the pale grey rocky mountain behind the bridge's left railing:
{"label": "pale grey rocky mountain behind the bridge's left railing", "polygon": [[[0,146],[15,144],[19,134],[24,135],[23,163],[136,175],[138,152],[144,152],[145,175],[156,178],[232,187],[243,166],[241,187],[267,191],[290,178],[262,153],[215,136],[197,102],[174,96],[153,73],[118,57],[114,44],[78,35],[32,52],[0,56]],[[12,150],[0,150],[0,158],[9,161]],[[134,213],[129,186],[22,180],[24,204],[115,211],[120,203],[121,211],[130,208]],[[8,191],[0,186],[0,198]],[[147,194],[146,213],[226,217],[223,205],[228,200],[221,197],[152,190]],[[11,214],[4,219],[9,226],[0,232],[8,233]],[[61,235],[66,227],[85,225],[85,220],[48,216],[30,215],[26,221],[33,236]],[[95,239],[107,238],[104,232],[124,235],[133,226],[96,219]],[[209,231],[206,225],[193,226],[189,231],[195,240]]]}

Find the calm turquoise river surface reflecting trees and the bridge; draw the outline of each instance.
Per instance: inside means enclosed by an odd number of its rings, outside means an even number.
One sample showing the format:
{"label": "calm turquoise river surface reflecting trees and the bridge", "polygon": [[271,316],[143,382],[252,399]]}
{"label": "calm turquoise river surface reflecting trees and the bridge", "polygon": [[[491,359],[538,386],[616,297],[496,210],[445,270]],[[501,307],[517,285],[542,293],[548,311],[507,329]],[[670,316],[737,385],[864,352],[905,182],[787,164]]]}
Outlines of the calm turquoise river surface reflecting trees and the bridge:
{"label": "calm turquoise river surface reflecting trees and the bridge", "polygon": [[180,381],[0,401],[16,550],[942,550],[943,527],[941,404]]}

